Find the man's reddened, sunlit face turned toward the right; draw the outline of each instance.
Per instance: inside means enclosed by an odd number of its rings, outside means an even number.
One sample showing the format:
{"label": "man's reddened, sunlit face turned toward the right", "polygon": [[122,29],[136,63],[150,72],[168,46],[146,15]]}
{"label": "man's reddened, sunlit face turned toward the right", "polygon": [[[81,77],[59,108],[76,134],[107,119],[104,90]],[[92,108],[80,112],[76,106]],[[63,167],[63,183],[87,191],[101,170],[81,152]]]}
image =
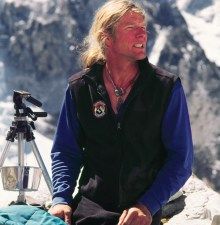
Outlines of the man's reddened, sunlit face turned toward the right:
{"label": "man's reddened, sunlit face turned toward the right", "polygon": [[136,61],[146,57],[147,32],[142,15],[128,11],[118,21],[114,37],[108,38],[108,51],[116,59]]}

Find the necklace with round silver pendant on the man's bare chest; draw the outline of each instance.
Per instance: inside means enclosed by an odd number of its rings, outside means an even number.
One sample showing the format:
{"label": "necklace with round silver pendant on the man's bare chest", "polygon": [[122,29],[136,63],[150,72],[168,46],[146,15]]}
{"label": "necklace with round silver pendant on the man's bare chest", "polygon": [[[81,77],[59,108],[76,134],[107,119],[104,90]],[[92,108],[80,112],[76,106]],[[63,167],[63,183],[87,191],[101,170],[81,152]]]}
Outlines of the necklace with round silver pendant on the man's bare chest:
{"label": "necklace with round silver pendant on the man's bare chest", "polygon": [[108,78],[109,78],[109,80],[110,80],[110,82],[111,82],[111,84],[114,88],[115,96],[117,97],[116,109],[117,109],[117,112],[118,112],[121,104],[124,102],[124,96],[126,94],[127,89],[135,82],[138,73],[136,73],[134,78],[132,80],[130,80],[124,87],[119,87],[115,84],[115,82],[114,82],[114,80],[111,76],[111,73],[108,69],[107,64],[106,64],[106,71],[107,71]]}

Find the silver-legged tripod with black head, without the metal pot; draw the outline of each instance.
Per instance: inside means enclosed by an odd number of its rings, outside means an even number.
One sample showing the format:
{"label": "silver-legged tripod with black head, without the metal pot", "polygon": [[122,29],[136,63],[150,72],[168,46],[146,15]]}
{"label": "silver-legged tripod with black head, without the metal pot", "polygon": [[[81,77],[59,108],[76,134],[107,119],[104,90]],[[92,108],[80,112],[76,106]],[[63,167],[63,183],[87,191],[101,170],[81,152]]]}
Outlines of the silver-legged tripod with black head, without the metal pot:
{"label": "silver-legged tripod with black head, without the metal pot", "polygon": [[[3,153],[0,158],[0,168],[2,170],[3,175],[3,164],[6,159],[7,153],[10,149],[12,142],[17,139],[18,144],[18,167],[16,168],[17,173],[17,183],[16,189],[19,191],[17,203],[26,203],[25,199],[25,190],[27,190],[28,176],[25,176],[24,173],[27,173],[27,168],[24,166],[24,141],[29,142],[31,144],[32,151],[35,155],[37,163],[42,171],[44,179],[46,181],[47,187],[52,194],[52,184],[50,176],[47,172],[47,169],[44,165],[43,159],[39,153],[37,145],[34,141],[35,137],[33,131],[35,129],[34,122],[28,121],[27,117],[30,117],[32,120],[37,120],[38,117],[47,116],[46,112],[33,112],[29,107],[22,102],[25,99],[36,106],[41,106],[42,104],[31,97],[30,93],[24,91],[14,91],[14,108],[16,110],[14,114],[14,121],[12,121],[12,126],[10,126],[10,130],[7,133],[7,143],[3,150]],[[25,171],[26,169],[26,171]],[[27,175],[27,174],[26,174]],[[7,176],[7,175],[6,175]],[[29,189],[30,190],[30,189]]]}

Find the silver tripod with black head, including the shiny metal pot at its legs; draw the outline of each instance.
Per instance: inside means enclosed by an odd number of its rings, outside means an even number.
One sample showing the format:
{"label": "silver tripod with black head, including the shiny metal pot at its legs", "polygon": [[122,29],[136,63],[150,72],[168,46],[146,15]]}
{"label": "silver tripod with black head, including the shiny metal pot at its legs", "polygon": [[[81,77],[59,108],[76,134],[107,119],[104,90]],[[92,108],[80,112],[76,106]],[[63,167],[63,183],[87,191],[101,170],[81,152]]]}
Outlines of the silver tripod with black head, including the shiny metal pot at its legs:
{"label": "silver tripod with black head, including the shiny metal pot at its legs", "polygon": [[[14,91],[14,121],[12,121],[12,126],[10,126],[10,130],[7,133],[7,143],[0,157],[3,188],[8,191],[19,191],[17,203],[26,203],[25,191],[36,191],[38,189],[41,174],[43,174],[48,189],[52,194],[51,179],[34,141],[35,137],[32,131],[35,129],[34,121],[36,121],[38,117],[46,117],[47,113],[34,112],[30,107],[27,107],[24,104],[24,100],[35,106],[42,106],[42,103],[31,97],[29,92]],[[32,121],[29,121],[28,117],[31,118]],[[17,140],[18,145],[18,165],[3,167],[7,152],[9,151],[12,142],[15,140]],[[39,167],[25,166],[23,149],[24,141],[31,144],[32,151]]]}

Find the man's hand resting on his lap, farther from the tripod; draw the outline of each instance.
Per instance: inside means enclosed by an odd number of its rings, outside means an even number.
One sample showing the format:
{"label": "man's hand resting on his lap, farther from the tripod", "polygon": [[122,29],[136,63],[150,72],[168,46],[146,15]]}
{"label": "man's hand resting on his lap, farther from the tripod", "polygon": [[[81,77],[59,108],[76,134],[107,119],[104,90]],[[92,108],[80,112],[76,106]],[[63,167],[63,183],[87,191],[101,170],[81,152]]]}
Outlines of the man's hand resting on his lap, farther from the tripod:
{"label": "man's hand resting on his lap, farther from the tripod", "polygon": [[152,216],[147,207],[137,204],[123,211],[118,225],[150,225]]}

